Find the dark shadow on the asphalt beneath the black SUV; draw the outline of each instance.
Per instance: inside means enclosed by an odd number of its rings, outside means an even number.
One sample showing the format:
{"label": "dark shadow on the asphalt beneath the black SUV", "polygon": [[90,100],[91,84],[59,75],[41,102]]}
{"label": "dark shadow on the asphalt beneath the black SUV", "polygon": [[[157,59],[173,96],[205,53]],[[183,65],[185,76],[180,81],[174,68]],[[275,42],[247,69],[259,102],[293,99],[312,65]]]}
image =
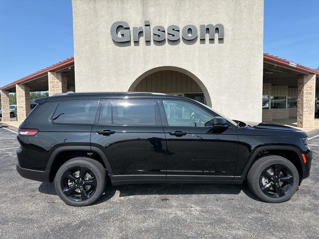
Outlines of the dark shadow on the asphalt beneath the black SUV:
{"label": "dark shadow on the asphalt beneath the black SUV", "polygon": [[[135,195],[195,195],[195,194],[230,194],[237,195],[241,191],[249,198],[260,201],[249,189],[246,182],[237,184],[130,184],[123,186],[107,185],[104,194],[95,203],[100,204],[114,197],[116,191],[120,197]],[[41,183],[39,192],[57,195],[53,183]],[[166,198],[163,197],[162,200]]]}

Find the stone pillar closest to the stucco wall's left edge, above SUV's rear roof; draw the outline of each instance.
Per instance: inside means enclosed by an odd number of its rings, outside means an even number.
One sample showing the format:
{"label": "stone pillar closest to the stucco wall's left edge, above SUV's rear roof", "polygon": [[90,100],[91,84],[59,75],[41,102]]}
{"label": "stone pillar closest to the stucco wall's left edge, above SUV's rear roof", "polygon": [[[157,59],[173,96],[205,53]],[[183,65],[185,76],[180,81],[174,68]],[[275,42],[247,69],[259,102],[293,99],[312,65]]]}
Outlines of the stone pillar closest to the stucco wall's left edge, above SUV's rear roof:
{"label": "stone pillar closest to the stucco wall's left edge, above SUV's rear roof", "polygon": [[48,72],[49,96],[67,92],[66,72]]}

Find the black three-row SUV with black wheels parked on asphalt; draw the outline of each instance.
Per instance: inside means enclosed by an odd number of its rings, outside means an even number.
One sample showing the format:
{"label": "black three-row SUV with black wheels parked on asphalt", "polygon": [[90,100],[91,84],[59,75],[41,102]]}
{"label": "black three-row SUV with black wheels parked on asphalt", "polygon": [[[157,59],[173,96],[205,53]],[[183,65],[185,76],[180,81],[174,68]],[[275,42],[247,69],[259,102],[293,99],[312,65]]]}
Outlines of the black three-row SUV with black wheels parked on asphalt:
{"label": "black three-row SUV with black wheels parked on asphalt", "polygon": [[308,135],[246,124],[194,100],[153,93],[66,93],[36,100],[21,123],[17,171],[54,181],[68,205],[113,185],[235,183],[261,200],[289,200],[309,176]]}

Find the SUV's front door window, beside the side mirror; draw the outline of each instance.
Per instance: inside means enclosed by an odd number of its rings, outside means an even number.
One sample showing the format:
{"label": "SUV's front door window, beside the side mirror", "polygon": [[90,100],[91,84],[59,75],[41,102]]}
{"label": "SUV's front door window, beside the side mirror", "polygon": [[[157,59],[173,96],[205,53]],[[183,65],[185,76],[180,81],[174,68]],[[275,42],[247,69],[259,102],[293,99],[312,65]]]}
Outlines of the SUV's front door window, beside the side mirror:
{"label": "SUV's front door window, beside the side mirror", "polygon": [[205,127],[214,117],[190,103],[182,101],[163,101],[169,126]]}

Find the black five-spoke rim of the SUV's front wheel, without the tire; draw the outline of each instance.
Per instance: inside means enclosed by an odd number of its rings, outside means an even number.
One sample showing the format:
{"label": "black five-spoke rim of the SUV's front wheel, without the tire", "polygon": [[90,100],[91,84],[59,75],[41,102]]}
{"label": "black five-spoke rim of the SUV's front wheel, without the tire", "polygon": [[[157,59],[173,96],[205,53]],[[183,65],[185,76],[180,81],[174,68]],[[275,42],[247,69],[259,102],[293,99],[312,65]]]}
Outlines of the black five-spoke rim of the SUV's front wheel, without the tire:
{"label": "black five-spoke rim of the SUV's front wheel, without the tire", "polygon": [[260,175],[261,191],[271,198],[280,198],[292,189],[294,177],[291,170],[283,164],[273,164],[265,168]]}

